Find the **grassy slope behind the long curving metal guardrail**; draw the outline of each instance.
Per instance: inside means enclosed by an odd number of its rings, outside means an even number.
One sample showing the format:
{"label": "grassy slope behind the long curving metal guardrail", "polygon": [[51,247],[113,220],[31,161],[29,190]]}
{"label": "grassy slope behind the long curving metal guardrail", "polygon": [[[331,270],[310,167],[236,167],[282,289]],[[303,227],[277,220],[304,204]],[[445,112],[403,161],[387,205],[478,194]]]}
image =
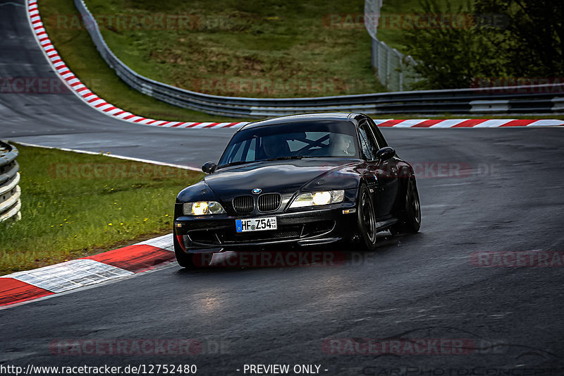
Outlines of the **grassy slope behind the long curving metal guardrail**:
{"label": "grassy slope behind the long curving metal guardrail", "polygon": [[[69,42],[85,32],[77,30],[72,3],[42,2],[49,32]],[[384,91],[372,70],[366,30],[327,22],[332,14],[362,12],[364,0],[86,3],[125,64],[170,85],[239,97]]]}

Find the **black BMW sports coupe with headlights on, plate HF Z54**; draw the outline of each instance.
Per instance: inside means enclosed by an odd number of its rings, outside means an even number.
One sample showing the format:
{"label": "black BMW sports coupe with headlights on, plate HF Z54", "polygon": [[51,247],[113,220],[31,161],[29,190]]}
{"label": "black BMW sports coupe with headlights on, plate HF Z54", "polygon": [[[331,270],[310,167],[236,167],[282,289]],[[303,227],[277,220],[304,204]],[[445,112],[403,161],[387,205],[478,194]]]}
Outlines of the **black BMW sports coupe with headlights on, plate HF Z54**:
{"label": "black BMW sports coupe with headlights on, plate HF Z54", "polygon": [[[302,114],[248,123],[219,163],[183,189],[174,210],[182,267],[195,255],[274,245],[352,242],[372,250],[376,232],[417,232],[412,166],[364,114]],[[211,257],[207,257],[211,259]]]}

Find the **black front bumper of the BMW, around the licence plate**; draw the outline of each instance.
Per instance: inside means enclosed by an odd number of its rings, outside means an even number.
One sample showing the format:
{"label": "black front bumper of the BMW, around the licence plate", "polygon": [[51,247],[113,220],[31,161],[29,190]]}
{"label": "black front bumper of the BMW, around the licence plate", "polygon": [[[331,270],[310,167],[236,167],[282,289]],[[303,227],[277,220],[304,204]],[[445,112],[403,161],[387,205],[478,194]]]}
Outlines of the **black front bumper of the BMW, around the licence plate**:
{"label": "black front bumper of the BMW, around the licence plate", "polygon": [[[349,210],[348,214],[343,214]],[[276,217],[278,229],[237,233],[236,219]],[[214,214],[181,216],[174,232],[186,253],[219,253],[226,250],[254,250],[268,246],[319,245],[352,238],[357,233],[355,203],[300,208],[299,211],[231,216]]]}

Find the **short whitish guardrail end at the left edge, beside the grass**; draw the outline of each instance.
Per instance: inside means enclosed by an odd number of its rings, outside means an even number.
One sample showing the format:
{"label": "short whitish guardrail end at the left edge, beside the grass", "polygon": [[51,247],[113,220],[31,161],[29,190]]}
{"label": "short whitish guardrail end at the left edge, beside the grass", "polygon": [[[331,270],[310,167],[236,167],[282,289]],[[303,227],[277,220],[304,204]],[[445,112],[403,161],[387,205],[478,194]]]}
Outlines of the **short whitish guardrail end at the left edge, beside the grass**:
{"label": "short whitish guardrail end at the left edge, beside the grass", "polygon": [[20,219],[21,189],[20,166],[16,162],[18,149],[0,141],[0,222],[7,219]]}

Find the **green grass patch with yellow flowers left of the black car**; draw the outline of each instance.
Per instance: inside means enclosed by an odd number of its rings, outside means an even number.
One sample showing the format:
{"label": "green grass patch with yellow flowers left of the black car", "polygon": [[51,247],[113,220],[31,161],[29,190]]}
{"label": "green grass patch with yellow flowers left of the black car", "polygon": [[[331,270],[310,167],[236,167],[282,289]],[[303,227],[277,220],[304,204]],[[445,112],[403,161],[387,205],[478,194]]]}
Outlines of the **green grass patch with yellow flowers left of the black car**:
{"label": "green grass patch with yellow flowers left of the black car", "polygon": [[176,195],[203,176],[104,155],[15,145],[22,219],[0,223],[0,274],[168,234]]}

